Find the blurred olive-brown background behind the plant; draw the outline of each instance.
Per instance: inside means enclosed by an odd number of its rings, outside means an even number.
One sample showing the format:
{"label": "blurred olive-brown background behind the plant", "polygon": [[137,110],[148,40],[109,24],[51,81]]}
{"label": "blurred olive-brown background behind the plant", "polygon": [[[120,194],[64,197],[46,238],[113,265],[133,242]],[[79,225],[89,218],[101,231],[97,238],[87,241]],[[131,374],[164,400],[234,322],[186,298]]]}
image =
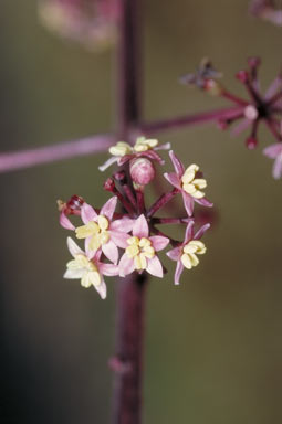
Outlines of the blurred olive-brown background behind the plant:
{"label": "blurred olive-brown background behind the plant", "polygon": [[[223,83],[249,55],[265,87],[281,66],[281,29],[248,15],[247,0],[144,1],[144,115],[171,117],[223,105],[181,86],[209,56]],[[114,51],[93,53],[46,31],[35,0],[0,1],[1,150],[51,145],[113,129]],[[209,182],[219,222],[199,267],[173,284],[152,280],[146,316],[144,422],[282,422],[281,181],[262,147],[248,151],[215,125],[159,136]],[[111,415],[115,283],[108,298],[62,275],[67,232],[56,199],[100,206],[106,155],[0,176],[1,422],[104,424]]]}

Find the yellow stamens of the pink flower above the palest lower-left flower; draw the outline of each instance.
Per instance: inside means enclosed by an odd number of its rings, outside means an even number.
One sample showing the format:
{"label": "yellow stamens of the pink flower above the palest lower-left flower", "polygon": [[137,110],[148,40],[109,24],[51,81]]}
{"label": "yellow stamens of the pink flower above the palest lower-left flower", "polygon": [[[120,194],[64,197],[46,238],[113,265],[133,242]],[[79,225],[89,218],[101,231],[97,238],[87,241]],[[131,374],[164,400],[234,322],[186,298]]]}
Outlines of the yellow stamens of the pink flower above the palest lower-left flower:
{"label": "yellow stamens of the pink flower above the palest lower-left flower", "polygon": [[109,240],[108,226],[108,220],[104,215],[98,215],[97,222],[91,221],[86,225],[79,226],[75,234],[77,239],[91,237],[88,247],[91,251],[97,251]]}

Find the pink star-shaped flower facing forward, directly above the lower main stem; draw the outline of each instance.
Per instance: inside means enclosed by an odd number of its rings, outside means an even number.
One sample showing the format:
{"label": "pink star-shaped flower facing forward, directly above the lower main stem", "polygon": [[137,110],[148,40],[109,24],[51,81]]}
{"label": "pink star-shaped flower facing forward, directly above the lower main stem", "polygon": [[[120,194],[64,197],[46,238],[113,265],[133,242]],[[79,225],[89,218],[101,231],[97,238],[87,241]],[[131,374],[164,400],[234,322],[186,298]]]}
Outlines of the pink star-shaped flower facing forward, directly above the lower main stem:
{"label": "pink star-shaped flower facing forward, directly above the lower main stem", "polygon": [[135,269],[146,269],[156,277],[163,277],[164,271],[156,252],[165,248],[169,239],[155,235],[149,236],[149,227],[144,215],[140,215],[133,225],[133,236],[127,240],[127,247],[119,262],[119,275],[122,277]]}

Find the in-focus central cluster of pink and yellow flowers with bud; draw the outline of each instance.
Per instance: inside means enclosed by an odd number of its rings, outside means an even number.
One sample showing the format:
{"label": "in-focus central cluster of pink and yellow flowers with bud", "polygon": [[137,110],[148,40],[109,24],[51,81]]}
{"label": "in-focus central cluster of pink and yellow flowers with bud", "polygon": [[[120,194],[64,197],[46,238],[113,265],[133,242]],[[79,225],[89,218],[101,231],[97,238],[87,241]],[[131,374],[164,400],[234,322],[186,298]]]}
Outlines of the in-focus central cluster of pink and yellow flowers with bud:
{"label": "in-focus central cluster of pink and yellow flowers with bud", "polygon": [[[210,224],[202,225],[195,233],[194,210],[195,202],[203,206],[212,206],[212,203],[206,199],[203,190],[207,188],[207,181],[197,165],[185,169],[170,150],[175,172],[164,176],[173,188],[146,208],[144,191],[148,181],[155,178],[154,161],[164,163],[155,151],[157,147],[157,140],[142,137],[133,147],[119,141],[109,149],[113,155],[111,159],[122,169],[105,181],[104,189],[113,195],[102,209],[92,208],[77,195],[73,195],[66,203],[59,201],[61,225],[84,242],[84,248],[81,248],[72,237],[67,237],[73,259],[66,264],[64,277],[81,279],[83,287],[94,286],[102,298],[106,297],[104,276],[125,277],[134,272],[147,272],[161,278],[166,271],[159,252],[168,244],[173,248],[167,252],[167,256],[177,262],[175,284],[179,284],[184,268],[191,269],[197,266],[198,255],[206,253],[206,246],[200,239]],[[159,146],[161,147],[169,146]],[[143,160],[148,162],[146,172],[143,169]],[[181,194],[186,216],[156,216],[156,212],[177,194]],[[118,212],[117,203],[121,206]],[[75,226],[70,220],[72,215],[80,216],[82,225]],[[160,232],[157,226],[161,224],[186,225],[184,241],[177,241]]]}

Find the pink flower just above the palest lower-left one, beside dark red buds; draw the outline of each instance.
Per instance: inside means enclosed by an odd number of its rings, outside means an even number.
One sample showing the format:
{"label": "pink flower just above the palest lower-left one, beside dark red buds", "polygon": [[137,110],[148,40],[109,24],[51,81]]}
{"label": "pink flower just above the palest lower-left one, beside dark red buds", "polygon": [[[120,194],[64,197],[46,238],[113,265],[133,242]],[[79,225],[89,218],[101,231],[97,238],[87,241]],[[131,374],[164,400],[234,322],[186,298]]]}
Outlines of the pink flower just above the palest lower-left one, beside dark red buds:
{"label": "pink flower just above the palest lower-left one, beside dark red buds", "polygon": [[123,218],[112,221],[117,198],[109,199],[101,209],[100,214],[87,203],[81,209],[81,218],[85,225],[75,230],[77,239],[85,239],[85,250],[92,256],[102,248],[104,255],[114,264],[118,261],[118,248],[127,246],[127,234],[132,231],[133,220]]}

